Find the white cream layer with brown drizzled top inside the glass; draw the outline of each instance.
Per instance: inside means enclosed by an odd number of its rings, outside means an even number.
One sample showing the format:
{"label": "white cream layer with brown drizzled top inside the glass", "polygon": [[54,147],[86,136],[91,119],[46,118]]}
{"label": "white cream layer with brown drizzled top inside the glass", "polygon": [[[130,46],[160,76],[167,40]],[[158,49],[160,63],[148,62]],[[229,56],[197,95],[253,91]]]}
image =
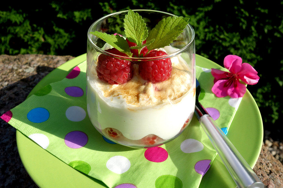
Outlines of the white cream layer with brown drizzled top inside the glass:
{"label": "white cream layer with brown drizzled top inside the glass", "polygon": [[[133,65],[133,78],[123,85],[110,85],[98,79],[97,63],[88,74],[88,113],[97,128],[119,130],[130,140],[157,135],[169,140],[177,135],[194,111],[195,82],[184,59],[171,58],[171,77],[151,83]],[[96,122],[96,120],[98,122]]]}

